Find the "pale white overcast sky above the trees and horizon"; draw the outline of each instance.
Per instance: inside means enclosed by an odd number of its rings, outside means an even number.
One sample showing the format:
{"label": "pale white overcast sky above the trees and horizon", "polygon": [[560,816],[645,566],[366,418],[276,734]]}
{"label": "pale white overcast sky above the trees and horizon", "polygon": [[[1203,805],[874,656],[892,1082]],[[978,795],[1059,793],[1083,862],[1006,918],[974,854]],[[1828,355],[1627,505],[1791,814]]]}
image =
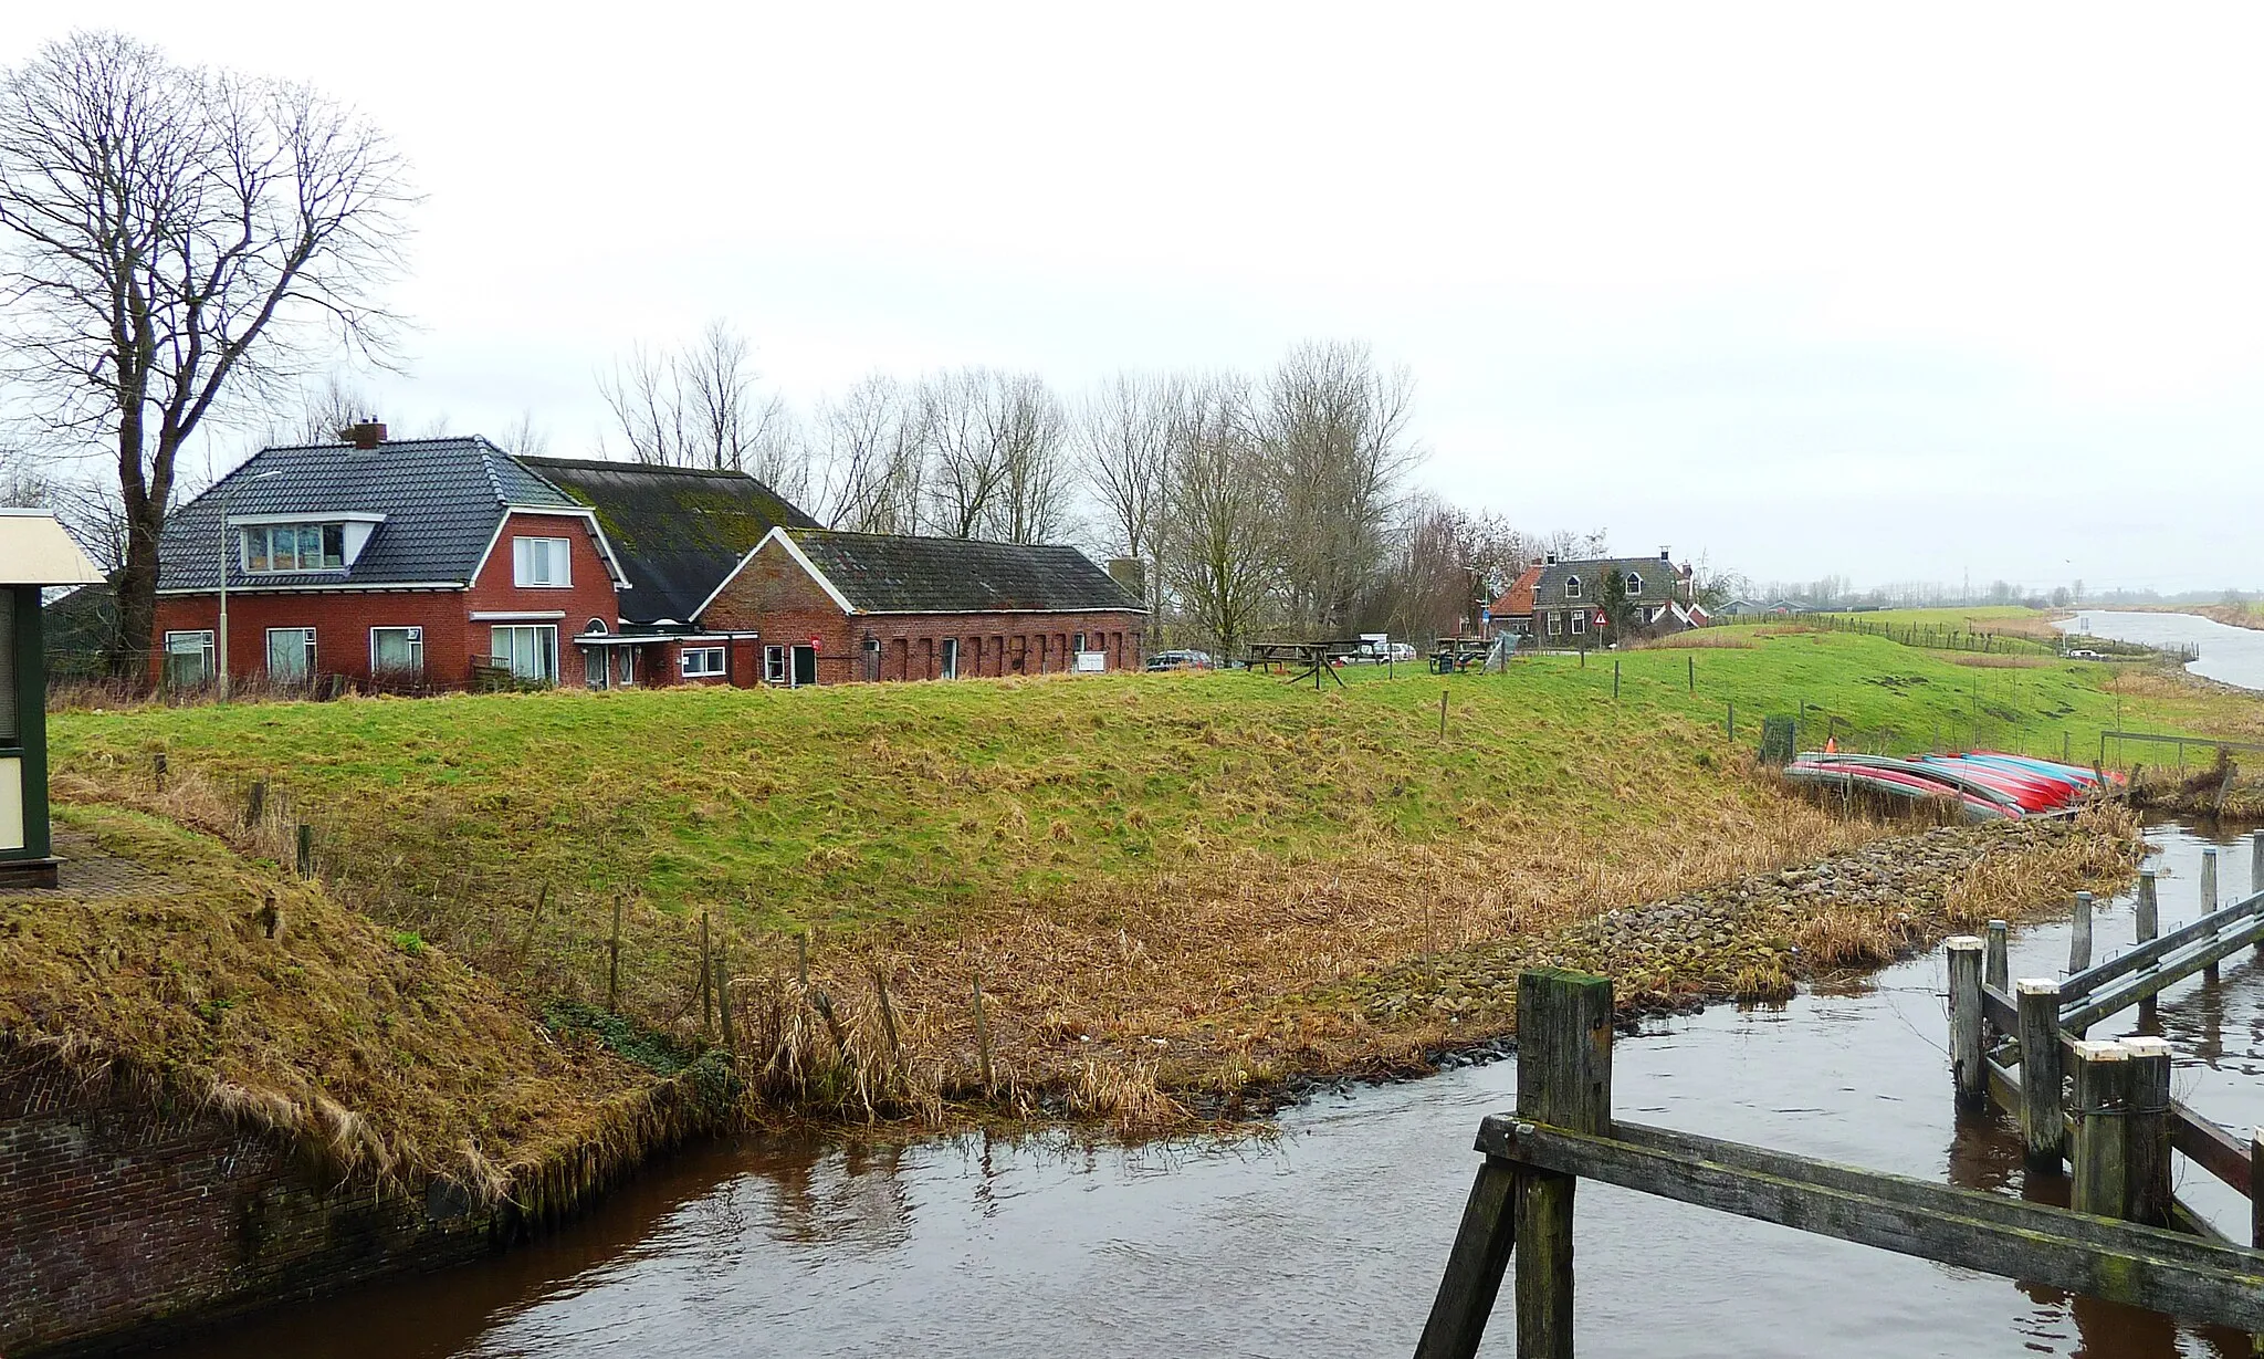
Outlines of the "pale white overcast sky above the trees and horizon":
{"label": "pale white overcast sky above the trees and horizon", "polygon": [[[84,9],[72,16],[72,9]],[[1757,578],[2264,584],[2264,9],[16,5],[414,165],[414,430],[727,317],[797,405],[1354,337],[1422,482]]]}

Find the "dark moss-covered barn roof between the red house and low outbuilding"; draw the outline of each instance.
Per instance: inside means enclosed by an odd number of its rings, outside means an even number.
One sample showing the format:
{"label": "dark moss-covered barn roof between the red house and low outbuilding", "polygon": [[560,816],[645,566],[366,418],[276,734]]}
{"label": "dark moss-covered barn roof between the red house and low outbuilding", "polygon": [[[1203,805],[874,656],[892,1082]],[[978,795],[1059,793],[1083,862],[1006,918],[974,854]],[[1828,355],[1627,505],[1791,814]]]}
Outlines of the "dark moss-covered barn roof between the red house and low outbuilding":
{"label": "dark moss-covered barn roof between the red house and low outbuilding", "polygon": [[691,623],[700,605],[772,528],[817,528],[743,471],[521,458],[528,471],[589,505],[620,555],[623,618]]}

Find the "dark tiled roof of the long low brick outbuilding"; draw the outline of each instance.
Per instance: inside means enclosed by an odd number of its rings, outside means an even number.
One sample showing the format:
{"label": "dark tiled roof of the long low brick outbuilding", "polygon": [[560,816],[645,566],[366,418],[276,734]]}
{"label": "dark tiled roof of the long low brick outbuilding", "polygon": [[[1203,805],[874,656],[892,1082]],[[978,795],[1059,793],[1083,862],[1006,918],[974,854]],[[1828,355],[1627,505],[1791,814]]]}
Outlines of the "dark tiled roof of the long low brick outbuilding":
{"label": "dark tiled roof of the long low brick outbuilding", "polygon": [[788,537],[851,607],[867,614],[1141,609],[1107,571],[1069,546],[831,528],[797,528]]}

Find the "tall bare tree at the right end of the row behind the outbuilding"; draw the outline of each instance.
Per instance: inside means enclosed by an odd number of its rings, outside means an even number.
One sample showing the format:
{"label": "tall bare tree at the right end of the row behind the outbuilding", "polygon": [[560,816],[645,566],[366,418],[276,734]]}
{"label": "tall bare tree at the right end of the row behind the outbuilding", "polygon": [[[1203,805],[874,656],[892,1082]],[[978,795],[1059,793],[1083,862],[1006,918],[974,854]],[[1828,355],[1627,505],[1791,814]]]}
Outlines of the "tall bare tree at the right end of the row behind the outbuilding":
{"label": "tall bare tree at the right end of the row behind the outbuilding", "polygon": [[1383,566],[1408,442],[1415,381],[1377,371],[1365,344],[1300,344],[1266,383],[1259,437],[1281,492],[1290,618],[1343,632]]}

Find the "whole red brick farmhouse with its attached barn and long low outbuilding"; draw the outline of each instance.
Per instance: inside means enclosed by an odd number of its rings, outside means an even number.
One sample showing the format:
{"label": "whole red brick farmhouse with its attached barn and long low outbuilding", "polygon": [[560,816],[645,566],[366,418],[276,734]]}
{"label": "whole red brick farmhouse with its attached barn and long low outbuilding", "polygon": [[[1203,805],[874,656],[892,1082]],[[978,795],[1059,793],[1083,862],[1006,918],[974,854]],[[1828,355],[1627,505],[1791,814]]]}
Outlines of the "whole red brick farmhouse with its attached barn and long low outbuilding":
{"label": "whole red brick farmhouse with its attached barn and long low outbuilding", "polygon": [[752,476],[478,437],[263,448],[158,544],[152,680],[833,684],[1137,670],[1148,614],[1066,546],[817,528]]}

